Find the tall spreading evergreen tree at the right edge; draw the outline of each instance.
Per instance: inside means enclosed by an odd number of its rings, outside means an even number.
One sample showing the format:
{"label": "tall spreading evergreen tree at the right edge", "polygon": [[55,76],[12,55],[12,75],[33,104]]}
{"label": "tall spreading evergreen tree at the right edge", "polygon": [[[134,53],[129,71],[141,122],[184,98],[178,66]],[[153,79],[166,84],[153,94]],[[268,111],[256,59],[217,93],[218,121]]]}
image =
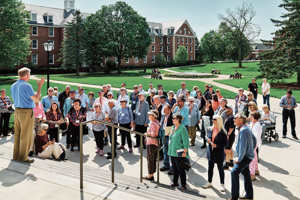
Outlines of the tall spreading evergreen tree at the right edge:
{"label": "tall spreading evergreen tree at the right edge", "polygon": [[262,40],[274,50],[259,54],[259,58],[263,59],[259,63],[259,77],[283,82],[297,76],[297,84],[300,85],[300,1],[283,0],[278,7],[284,8],[287,13],[281,16],[283,20],[271,19],[280,29],[272,33],[276,36],[275,41]]}

